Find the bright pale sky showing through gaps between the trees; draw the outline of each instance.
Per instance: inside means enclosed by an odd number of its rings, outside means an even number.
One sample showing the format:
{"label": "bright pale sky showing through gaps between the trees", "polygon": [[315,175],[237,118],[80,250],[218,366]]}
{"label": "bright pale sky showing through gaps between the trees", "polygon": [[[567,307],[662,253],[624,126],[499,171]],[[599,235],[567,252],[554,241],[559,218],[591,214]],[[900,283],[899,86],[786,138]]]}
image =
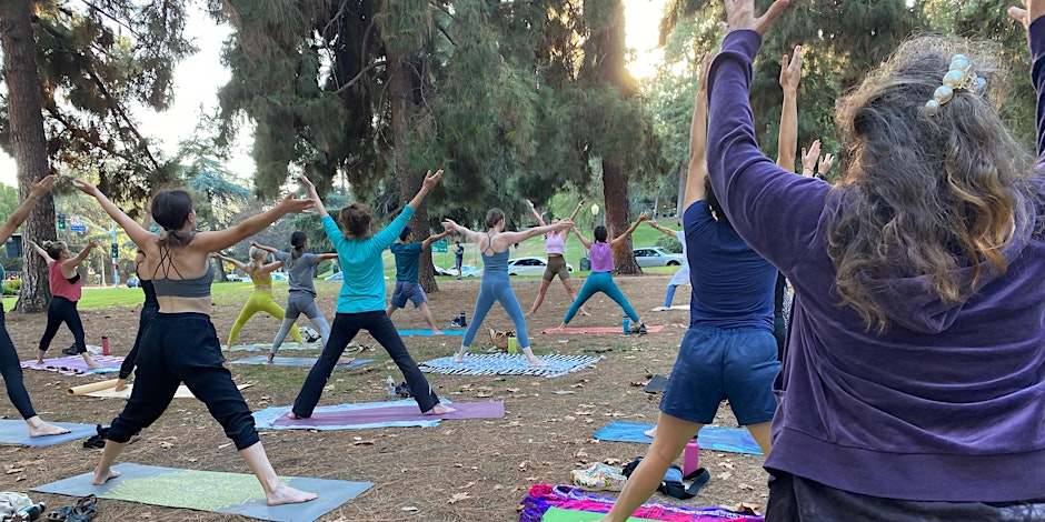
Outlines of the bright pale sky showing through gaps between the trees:
{"label": "bright pale sky showing through gaps between the trees", "polygon": [[[656,49],[657,27],[667,0],[624,0],[627,19],[627,46],[635,49],[635,60],[628,69],[636,78],[653,76],[656,63],[664,53]],[[229,34],[227,26],[215,21],[196,6],[190,8],[191,18],[186,27],[187,36],[195,40],[199,52],[183,60],[175,71],[175,101],[166,112],[156,113],[140,109],[135,117],[139,130],[151,137],[168,155],[173,155],[178,142],[196,129],[200,109],[208,112],[218,106],[218,88],[228,82],[229,71],[221,64],[221,43]],[[230,171],[250,178],[253,160],[249,155],[251,135],[246,129],[235,145],[235,154],[227,164]],[[17,185],[14,160],[0,151],[0,183]]]}

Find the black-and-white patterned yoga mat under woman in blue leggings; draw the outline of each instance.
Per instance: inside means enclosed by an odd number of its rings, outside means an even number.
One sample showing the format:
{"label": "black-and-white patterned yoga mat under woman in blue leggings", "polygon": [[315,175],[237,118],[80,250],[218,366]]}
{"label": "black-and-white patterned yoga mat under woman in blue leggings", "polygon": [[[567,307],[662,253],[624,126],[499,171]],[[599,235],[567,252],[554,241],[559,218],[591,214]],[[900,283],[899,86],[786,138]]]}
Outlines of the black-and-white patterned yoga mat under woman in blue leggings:
{"label": "black-and-white patterned yoga mat under woman in blue leggings", "polygon": [[530,368],[526,364],[526,355],[521,353],[482,353],[478,355],[465,354],[465,362],[461,364],[455,362],[452,357],[445,357],[425,361],[418,364],[418,368],[422,372],[447,375],[537,375],[553,378],[584,370],[598,362],[603,357],[549,353],[538,355],[537,359],[547,362],[548,365]]}

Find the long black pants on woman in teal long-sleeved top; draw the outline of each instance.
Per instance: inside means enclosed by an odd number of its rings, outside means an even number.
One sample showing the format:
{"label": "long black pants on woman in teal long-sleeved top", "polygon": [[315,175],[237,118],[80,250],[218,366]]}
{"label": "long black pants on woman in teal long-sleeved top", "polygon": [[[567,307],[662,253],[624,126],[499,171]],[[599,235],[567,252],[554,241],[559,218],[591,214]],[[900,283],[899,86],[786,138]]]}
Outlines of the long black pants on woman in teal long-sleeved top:
{"label": "long black pants on woman in teal long-sleeved top", "polygon": [[428,384],[428,380],[417,368],[417,363],[414,362],[414,358],[407,351],[402,339],[399,338],[396,325],[392,324],[391,319],[388,319],[384,310],[360,313],[338,312],[334,317],[334,325],[330,327],[330,340],[324,347],[319,360],[316,361],[316,364],[312,364],[312,370],[308,372],[308,378],[305,380],[305,384],[301,385],[298,398],[293,401],[292,411],[295,415],[301,419],[312,416],[312,410],[316,409],[316,403],[319,402],[319,396],[322,395],[322,389],[327,385],[327,380],[330,379],[330,372],[334,371],[341,353],[345,353],[345,347],[352,342],[359,330],[370,332],[370,335],[391,355],[392,361],[402,372],[402,377],[406,378],[407,385],[410,387],[414,400],[417,401],[421,412],[431,410],[439,403],[439,398],[436,396],[436,392],[431,391],[431,385]]}

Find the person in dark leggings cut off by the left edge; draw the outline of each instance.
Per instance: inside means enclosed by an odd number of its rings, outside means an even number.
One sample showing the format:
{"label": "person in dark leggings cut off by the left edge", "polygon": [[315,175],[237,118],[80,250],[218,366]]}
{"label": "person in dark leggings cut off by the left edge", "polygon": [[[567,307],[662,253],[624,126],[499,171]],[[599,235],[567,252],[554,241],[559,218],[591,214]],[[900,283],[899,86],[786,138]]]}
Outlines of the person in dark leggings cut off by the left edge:
{"label": "person in dark leggings cut off by the left edge", "polygon": [[[37,201],[40,201],[43,194],[50,192],[53,185],[54,174],[32,182],[29,189],[29,195],[14,209],[14,212],[11,212],[8,220],[4,221],[3,224],[0,224],[0,243],[6,243],[11,239],[14,231],[18,230],[22,222],[26,221],[26,218],[29,217],[29,212],[32,211]],[[11,252],[8,253],[10,254]],[[3,279],[3,267],[0,265],[0,281]],[[18,414],[22,415],[22,419],[26,420],[26,424],[29,426],[29,436],[69,433],[69,430],[64,428],[43,422],[36,410],[33,410],[32,402],[29,400],[29,391],[26,390],[26,383],[22,380],[22,367],[21,361],[18,360],[18,351],[14,349],[14,342],[11,341],[11,334],[8,333],[2,302],[0,302],[0,375],[3,377],[3,385],[7,388],[8,398],[14,404]]]}

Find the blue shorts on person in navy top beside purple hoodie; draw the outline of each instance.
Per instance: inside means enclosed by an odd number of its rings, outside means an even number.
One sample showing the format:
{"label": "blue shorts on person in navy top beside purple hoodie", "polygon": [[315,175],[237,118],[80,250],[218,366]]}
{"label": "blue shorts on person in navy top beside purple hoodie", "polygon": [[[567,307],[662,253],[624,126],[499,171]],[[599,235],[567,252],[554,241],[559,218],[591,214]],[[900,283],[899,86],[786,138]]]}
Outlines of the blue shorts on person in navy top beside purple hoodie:
{"label": "blue shorts on person in navy top beside purple hoodie", "polygon": [[757,328],[689,327],[668,379],[660,411],[710,424],[723,399],[740,425],[773,420],[773,380],[780,371],[776,340]]}

